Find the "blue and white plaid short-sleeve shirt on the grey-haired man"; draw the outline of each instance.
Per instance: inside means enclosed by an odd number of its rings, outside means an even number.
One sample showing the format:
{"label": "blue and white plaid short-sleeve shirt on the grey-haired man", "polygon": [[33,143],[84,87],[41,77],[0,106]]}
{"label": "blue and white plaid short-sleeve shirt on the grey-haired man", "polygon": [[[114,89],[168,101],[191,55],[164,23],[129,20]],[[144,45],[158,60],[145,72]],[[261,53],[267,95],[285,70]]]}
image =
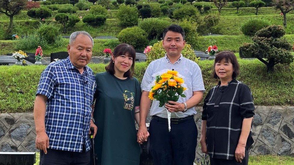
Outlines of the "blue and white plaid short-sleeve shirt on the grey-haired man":
{"label": "blue and white plaid short-sleeve shirt on the grey-haired man", "polygon": [[45,129],[49,148],[82,152],[91,148],[89,126],[91,105],[96,88],[92,70],[84,67],[83,74],[69,57],[51,63],[42,72],[37,94],[47,96]]}

